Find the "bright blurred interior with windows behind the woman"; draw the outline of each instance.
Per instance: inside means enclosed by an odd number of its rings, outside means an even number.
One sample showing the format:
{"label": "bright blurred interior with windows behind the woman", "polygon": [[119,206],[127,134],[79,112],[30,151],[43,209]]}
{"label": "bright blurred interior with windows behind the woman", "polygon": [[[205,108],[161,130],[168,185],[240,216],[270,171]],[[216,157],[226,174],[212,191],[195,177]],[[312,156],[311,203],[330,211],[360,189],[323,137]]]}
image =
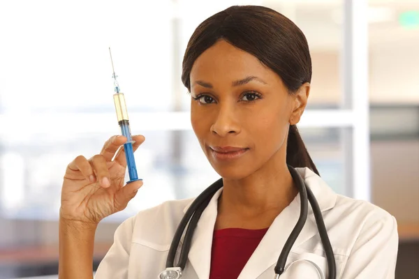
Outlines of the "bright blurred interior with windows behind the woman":
{"label": "bright blurred interior with windows behind the woman", "polygon": [[304,142],[337,193],[397,218],[396,278],[419,278],[418,0],[27,0],[0,1],[0,279],[57,278],[66,165],[119,133],[108,47],[131,130],[147,139],[135,153],[145,186],[99,225],[95,268],[125,218],[218,179],[180,75],[193,30],[234,4],[274,8],[305,33]]}

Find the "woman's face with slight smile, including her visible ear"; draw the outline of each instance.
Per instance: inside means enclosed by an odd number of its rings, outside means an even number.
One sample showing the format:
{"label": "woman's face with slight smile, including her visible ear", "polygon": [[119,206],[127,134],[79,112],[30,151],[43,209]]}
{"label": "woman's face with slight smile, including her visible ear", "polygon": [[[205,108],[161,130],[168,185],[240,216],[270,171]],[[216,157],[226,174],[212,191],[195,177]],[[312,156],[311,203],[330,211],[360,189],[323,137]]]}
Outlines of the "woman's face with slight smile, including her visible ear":
{"label": "woman's face with slight smile, including her visible ear", "polygon": [[190,82],[193,131],[220,176],[285,164],[288,126],[300,120],[309,85],[289,94],[279,75],[224,40],[196,59]]}

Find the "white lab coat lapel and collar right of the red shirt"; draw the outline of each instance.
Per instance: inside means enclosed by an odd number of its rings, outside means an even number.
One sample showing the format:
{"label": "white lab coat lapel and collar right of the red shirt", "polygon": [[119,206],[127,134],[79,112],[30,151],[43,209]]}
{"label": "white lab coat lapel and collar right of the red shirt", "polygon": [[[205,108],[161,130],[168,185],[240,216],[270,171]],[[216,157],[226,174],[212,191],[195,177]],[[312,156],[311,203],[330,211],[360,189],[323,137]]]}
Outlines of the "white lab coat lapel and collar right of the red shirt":
{"label": "white lab coat lapel and collar right of the red shirt", "polygon": [[[325,185],[320,177],[309,169],[297,169],[297,171],[300,172],[300,175],[307,183],[307,186],[313,191],[322,212],[335,206],[336,194]],[[318,234],[311,206],[309,206],[308,213],[309,216],[307,217],[307,221],[300,235],[297,237],[293,248]],[[297,223],[299,216],[300,195],[297,195],[293,202],[275,218],[237,279],[258,278],[261,273],[265,272],[272,265],[277,264],[281,250]],[[272,276],[274,276],[274,274],[272,274]]]}

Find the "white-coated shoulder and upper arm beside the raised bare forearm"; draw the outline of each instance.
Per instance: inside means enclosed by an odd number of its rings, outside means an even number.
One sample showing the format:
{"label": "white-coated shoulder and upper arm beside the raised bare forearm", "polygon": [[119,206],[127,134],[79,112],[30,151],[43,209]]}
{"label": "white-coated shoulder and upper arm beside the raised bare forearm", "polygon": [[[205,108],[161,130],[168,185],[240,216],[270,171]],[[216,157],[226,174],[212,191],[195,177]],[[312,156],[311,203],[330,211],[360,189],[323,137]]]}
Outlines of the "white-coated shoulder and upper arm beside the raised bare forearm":
{"label": "white-coated shoulder and upper arm beside the raised bare forearm", "polygon": [[[117,227],[114,243],[98,266],[95,278],[156,278],[156,267],[164,269],[163,254],[169,250],[178,223],[193,199],[172,200],[138,212]],[[134,261],[131,264],[131,261]],[[153,276],[150,274],[153,273]]]}

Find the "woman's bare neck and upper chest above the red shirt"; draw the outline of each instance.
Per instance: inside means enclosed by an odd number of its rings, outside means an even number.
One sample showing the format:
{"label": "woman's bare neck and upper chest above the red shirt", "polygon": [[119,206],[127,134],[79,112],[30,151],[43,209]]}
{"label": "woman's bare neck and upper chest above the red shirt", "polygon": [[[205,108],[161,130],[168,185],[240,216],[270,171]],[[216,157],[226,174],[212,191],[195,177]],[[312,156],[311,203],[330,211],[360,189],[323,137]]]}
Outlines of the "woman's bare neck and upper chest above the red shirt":
{"label": "woman's bare neck and upper chest above the red shirt", "polygon": [[274,160],[243,179],[223,179],[216,229],[269,227],[297,193],[286,163]]}

